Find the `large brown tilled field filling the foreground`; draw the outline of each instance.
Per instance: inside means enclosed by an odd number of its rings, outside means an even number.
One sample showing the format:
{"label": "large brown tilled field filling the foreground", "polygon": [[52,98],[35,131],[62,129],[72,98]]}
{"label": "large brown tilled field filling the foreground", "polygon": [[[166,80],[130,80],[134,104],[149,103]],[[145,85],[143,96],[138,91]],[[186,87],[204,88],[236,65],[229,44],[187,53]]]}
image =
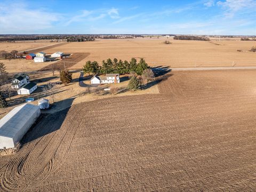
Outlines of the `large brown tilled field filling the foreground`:
{"label": "large brown tilled field filling the foreground", "polygon": [[175,71],[160,94],[79,103],[42,119],[2,190],[253,191],[256,70]]}

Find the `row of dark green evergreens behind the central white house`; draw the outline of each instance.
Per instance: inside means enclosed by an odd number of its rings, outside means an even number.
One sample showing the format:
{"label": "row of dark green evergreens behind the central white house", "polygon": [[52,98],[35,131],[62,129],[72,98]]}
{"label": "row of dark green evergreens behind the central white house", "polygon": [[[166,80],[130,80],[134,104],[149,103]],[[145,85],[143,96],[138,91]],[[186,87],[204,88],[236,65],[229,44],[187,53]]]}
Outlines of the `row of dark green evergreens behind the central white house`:
{"label": "row of dark green evergreens behind the central white house", "polygon": [[118,73],[118,74],[129,74],[132,72],[142,75],[143,70],[148,68],[148,64],[145,59],[141,58],[137,63],[135,58],[132,58],[130,62],[117,60],[116,58],[112,61],[102,61],[102,66],[99,66],[97,61],[87,61],[83,67],[84,73],[92,74],[107,74],[107,73]]}

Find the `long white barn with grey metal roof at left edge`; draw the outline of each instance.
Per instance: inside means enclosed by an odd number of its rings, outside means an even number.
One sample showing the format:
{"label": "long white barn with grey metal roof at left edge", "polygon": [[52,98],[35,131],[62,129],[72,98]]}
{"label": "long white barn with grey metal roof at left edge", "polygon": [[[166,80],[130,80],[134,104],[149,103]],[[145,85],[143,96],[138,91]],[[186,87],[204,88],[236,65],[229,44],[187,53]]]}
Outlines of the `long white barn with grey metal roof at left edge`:
{"label": "long white barn with grey metal roof at left edge", "polygon": [[26,103],[0,119],[0,149],[15,147],[40,114],[38,106]]}

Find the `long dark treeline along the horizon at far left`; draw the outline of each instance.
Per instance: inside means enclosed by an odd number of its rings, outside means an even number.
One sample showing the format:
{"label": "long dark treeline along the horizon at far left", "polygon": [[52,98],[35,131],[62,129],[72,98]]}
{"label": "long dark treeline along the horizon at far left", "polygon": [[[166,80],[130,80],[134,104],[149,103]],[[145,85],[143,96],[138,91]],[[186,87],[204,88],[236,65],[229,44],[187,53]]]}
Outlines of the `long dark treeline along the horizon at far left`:
{"label": "long dark treeline along the horizon at far left", "polygon": [[0,42],[3,41],[28,41],[40,39],[64,39],[67,42],[94,41],[97,35],[0,35]]}

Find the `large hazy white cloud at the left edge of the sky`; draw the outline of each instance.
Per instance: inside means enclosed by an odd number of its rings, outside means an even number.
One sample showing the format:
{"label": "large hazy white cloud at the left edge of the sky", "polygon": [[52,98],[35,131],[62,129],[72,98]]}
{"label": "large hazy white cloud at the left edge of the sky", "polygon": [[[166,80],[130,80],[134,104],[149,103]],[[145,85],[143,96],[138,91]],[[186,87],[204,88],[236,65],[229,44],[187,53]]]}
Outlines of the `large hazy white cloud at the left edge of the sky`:
{"label": "large hazy white cloud at the left edge of the sky", "polygon": [[60,20],[61,15],[43,9],[31,9],[25,3],[0,4],[1,34],[33,33],[53,27],[53,22]]}

